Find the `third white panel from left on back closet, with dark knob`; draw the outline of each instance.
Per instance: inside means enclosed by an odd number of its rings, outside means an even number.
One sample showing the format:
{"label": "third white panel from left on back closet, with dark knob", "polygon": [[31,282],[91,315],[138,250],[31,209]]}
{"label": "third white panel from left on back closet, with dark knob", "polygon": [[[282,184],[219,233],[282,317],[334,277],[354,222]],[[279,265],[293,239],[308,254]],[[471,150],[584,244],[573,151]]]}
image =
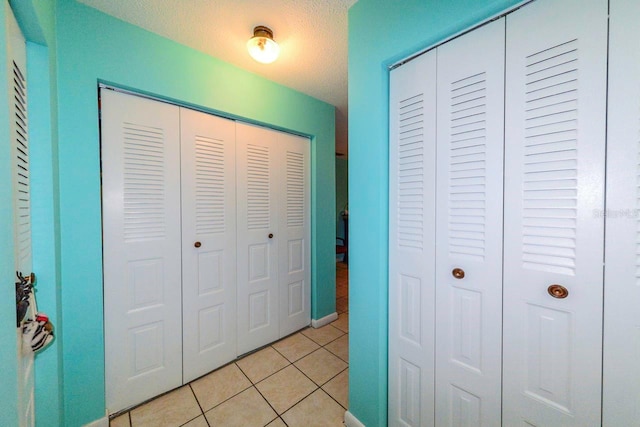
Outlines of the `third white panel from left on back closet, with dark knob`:
{"label": "third white panel from left on back closet, with dark knob", "polygon": [[236,124],[238,354],[279,338],[277,135]]}

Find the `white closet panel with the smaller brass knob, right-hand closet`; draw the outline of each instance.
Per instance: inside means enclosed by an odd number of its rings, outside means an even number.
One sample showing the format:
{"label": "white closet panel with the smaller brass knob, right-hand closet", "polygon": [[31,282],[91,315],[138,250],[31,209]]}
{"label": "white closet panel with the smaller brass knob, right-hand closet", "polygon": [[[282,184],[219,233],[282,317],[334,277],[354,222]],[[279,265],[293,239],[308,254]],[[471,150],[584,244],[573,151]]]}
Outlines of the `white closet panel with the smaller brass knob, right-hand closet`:
{"label": "white closet panel with the smaller brass knob, right-hand closet", "polygon": [[436,425],[500,425],[504,19],[438,48]]}

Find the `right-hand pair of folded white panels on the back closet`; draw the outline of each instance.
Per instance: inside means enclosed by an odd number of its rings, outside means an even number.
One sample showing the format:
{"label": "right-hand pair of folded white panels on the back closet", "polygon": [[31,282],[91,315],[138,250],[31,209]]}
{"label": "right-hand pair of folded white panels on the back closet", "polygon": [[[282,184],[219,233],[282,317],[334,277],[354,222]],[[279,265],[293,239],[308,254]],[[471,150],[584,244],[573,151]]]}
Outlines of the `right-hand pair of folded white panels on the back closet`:
{"label": "right-hand pair of folded white panels on the back closet", "polygon": [[311,320],[309,139],[236,124],[238,354]]}

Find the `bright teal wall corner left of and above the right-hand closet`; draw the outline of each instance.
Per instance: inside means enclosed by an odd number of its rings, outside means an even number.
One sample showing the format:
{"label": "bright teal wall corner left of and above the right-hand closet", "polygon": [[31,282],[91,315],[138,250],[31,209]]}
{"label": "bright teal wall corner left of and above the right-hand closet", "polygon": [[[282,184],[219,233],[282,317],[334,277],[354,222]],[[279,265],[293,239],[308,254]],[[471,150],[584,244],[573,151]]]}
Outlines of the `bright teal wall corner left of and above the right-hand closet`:
{"label": "bright teal wall corner left of and above the right-hand closet", "polygon": [[387,66],[515,3],[359,0],[349,10],[349,411],[367,427],[387,423]]}

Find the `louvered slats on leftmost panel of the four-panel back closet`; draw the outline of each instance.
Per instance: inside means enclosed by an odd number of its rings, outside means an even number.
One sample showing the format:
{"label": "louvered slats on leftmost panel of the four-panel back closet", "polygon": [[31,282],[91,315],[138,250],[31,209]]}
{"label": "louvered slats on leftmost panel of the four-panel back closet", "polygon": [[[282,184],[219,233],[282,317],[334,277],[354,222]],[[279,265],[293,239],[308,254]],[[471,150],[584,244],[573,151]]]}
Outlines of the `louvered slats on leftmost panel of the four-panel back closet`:
{"label": "louvered slats on leftmost panel of the four-panel back closet", "polygon": [[166,233],[164,131],[123,123],[124,239],[162,239]]}

